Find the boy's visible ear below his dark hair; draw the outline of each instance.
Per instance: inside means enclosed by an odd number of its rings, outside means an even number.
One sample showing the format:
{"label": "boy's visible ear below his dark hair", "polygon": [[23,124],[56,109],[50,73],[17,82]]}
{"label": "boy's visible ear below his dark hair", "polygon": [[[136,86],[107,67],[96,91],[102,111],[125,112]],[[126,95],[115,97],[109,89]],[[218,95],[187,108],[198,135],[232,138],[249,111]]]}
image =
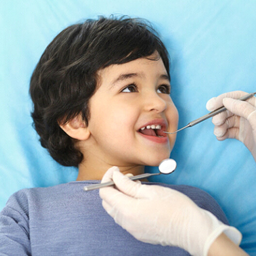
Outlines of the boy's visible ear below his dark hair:
{"label": "boy's visible ear below his dark hair", "polygon": [[63,125],[60,124],[60,128],[62,128],[64,132],[71,138],[77,139],[79,141],[85,141],[90,136],[90,131],[82,120],[80,114],[68,121],[67,123]]}

